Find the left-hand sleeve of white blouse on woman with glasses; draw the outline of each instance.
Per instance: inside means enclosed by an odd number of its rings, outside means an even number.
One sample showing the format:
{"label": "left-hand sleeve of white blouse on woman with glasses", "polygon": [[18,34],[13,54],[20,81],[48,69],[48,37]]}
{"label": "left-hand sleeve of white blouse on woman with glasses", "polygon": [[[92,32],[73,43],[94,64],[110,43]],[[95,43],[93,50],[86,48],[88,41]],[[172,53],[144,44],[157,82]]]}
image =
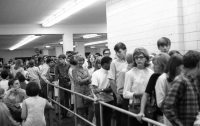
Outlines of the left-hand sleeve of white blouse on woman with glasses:
{"label": "left-hand sleeve of white blouse on woman with glasses", "polygon": [[131,86],[133,84],[132,82],[133,82],[132,76],[131,74],[129,74],[129,72],[127,72],[125,74],[125,83],[124,83],[124,91],[123,91],[123,97],[126,99],[133,98],[134,92],[131,92]]}

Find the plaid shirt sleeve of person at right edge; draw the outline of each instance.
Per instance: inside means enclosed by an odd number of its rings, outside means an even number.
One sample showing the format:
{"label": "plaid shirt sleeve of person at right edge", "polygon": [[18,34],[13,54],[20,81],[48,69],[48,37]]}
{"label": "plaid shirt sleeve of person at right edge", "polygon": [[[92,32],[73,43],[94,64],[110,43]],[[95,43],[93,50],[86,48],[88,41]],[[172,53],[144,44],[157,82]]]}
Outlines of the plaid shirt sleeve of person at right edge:
{"label": "plaid shirt sleeve of person at right edge", "polygon": [[169,93],[167,94],[164,102],[163,102],[163,112],[167,119],[174,126],[179,126],[182,123],[177,117],[177,104],[184,95],[185,92],[185,84],[180,82],[174,82],[172,87],[170,88]]}

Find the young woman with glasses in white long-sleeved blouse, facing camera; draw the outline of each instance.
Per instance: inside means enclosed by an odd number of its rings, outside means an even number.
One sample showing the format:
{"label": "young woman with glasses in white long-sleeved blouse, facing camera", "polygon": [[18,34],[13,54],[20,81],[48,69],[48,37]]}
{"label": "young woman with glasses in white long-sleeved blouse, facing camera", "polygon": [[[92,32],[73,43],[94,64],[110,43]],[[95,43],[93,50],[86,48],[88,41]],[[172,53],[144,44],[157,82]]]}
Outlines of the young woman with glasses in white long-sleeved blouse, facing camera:
{"label": "young woman with glasses in white long-sleeved blouse, facing camera", "polygon": [[[129,103],[140,104],[147,83],[154,73],[149,69],[149,53],[145,48],[136,48],[133,53],[133,68],[125,74],[123,97]],[[140,110],[139,110],[140,111]],[[138,113],[136,113],[138,114]],[[130,125],[147,126],[146,122],[140,123],[136,118],[130,119]]]}

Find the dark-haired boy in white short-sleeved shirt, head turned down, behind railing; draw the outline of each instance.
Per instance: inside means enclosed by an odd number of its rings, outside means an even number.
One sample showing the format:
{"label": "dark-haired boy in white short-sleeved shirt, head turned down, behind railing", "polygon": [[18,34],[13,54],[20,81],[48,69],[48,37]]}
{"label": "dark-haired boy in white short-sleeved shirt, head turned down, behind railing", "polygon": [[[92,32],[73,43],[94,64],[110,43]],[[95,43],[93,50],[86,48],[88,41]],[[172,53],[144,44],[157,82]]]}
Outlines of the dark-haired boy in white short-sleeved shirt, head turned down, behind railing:
{"label": "dark-haired boy in white short-sleeved shirt, head turned down, behind railing", "polygon": [[[113,96],[111,94],[112,89],[110,88],[110,82],[108,79],[108,70],[110,69],[110,64],[112,62],[112,58],[103,57],[101,59],[101,68],[95,71],[92,74],[92,90],[95,94],[101,95],[104,93],[108,101],[104,101],[108,104],[113,104]],[[102,99],[106,100],[106,99]],[[100,108],[99,104],[95,104],[95,116],[96,116],[96,124],[100,126]],[[112,109],[106,106],[103,106],[103,126],[111,126],[111,117],[112,117]]]}

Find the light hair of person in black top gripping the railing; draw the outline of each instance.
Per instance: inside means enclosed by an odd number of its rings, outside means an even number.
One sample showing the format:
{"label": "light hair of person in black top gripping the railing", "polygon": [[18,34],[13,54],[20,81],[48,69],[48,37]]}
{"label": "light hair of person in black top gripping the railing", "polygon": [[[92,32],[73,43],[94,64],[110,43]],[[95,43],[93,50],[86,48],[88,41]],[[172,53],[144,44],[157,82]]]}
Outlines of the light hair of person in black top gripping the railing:
{"label": "light hair of person in black top gripping the railing", "polygon": [[158,65],[162,67],[162,70],[166,71],[167,63],[169,59],[170,59],[170,56],[167,53],[160,53],[153,58],[152,62],[153,64],[157,62]]}

